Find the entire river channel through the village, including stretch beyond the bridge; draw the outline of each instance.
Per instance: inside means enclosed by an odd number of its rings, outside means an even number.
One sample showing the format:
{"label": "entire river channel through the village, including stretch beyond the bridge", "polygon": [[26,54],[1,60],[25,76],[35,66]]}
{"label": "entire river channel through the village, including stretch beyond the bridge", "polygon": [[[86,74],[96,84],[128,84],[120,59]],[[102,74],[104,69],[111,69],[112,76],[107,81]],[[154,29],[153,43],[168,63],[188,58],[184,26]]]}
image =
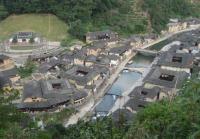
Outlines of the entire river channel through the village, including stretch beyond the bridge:
{"label": "entire river channel through the village, including stretch beyond the bridge", "polygon": [[[164,46],[170,44],[171,42],[180,39],[184,36],[185,33],[180,33],[170,37],[164,41],[161,41],[155,45],[148,47],[149,50],[160,51]],[[144,56],[141,54],[137,54],[133,57],[129,64],[126,67],[129,68],[148,68],[153,62],[155,57],[152,56]],[[134,84],[142,78],[142,74],[139,72],[133,72],[124,70],[119,74],[118,79],[113,83],[111,88],[107,91],[107,93],[103,96],[101,102],[95,107],[96,116],[106,116],[110,109],[115,104],[116,100],[122,96],[124,92],[131,89]]]}

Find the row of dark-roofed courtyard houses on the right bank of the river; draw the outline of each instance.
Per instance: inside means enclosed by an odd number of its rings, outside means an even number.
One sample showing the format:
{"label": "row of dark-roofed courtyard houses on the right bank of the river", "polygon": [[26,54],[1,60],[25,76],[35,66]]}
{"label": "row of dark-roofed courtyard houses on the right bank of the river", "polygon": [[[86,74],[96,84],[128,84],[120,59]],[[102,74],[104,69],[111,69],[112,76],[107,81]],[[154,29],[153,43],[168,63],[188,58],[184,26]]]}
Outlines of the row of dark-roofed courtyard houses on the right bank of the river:
{"label": "row of dark-roofed courtyard houses on the right bank of the river", "polygon": [[179,35],[180,45],[172,45],[167,51],[161,51],[158,61],[143,79],[143,84],[136,87],[122,109],[112,113],[115,121],[120,115],[129,122],[135,114],[148,104],[164,98],[173,98],[183,82],[200,66],[200,30],[193,30]]}

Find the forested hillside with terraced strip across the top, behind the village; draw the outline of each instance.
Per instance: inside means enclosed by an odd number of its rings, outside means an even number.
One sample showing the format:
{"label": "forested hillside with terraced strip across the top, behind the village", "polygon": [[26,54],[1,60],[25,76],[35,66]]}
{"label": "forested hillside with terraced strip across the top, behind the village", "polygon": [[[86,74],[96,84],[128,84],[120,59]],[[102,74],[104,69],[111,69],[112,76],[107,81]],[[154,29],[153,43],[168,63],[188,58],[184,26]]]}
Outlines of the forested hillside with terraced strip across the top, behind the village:
{"label": "forested hillside with terraced strip across the top, behind the village", "polygon": [[[0,19],[10,14],[52,13],[83,39],[87,31],[111,29],[121,35],[159,32],[169,18],[199,16],[192,0],[0,0]],[[150,22],[149,22],[150,21]]]}

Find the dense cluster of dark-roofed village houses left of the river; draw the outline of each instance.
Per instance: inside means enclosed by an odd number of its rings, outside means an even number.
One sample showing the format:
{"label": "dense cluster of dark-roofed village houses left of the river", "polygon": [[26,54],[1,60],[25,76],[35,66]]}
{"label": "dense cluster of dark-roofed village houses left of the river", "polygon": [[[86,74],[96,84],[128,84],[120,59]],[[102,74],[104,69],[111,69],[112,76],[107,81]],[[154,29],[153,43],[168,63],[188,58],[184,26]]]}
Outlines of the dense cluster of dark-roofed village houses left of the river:
{"label": "dense cluster of dark-roofed village houses left of the river", "polygon": [[[23,111],[46,111],[84,104],[105,85],[117,66],[131,56],[134,44],[129,40],[120,40],[112,31],[92,32],[86,34],[88,43],[85,46],[48,56],[30,56],[29,60],[36,62],[38,68],[31,80],[22,83],[16,79],[22,86],[21,102],[17,107]],[[147,35],[141,36],[140,46],[145,43],[149,43]],[[7,59],[10,62],[6,62]],[[14,67],[9,57],[2,55],[2,60],[5,61],[2,67]],[[9,77],[17,77],[17,74]],[[18,87],[14,83],[8,86]]]}

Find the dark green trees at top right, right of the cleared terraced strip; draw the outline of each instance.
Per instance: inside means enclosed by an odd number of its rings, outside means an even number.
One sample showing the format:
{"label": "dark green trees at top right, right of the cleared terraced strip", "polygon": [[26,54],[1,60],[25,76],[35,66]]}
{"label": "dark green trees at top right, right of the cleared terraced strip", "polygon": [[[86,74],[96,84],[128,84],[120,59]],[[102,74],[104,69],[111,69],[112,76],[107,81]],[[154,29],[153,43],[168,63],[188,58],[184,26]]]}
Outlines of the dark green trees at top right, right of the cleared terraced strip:
{"label": "dark green trees at top right, right of the cleared terraced strip", "polygon": [[200,16],[196,4],[190,0],[143,0],[143,9],[150,15],[153,29],[160,32],[170,18]]}

